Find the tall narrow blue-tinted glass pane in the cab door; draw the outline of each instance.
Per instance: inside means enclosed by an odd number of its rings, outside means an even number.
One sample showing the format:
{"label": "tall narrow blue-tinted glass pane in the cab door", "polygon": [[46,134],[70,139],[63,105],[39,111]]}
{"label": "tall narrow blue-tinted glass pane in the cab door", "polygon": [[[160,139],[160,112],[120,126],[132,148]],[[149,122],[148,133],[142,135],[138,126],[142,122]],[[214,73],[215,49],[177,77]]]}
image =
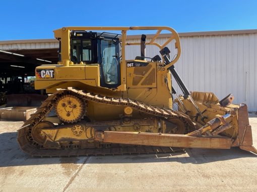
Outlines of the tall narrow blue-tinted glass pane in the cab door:
{"label": "tall narrow blue-tinted glass pane in the cab door", "polygon": [[116,44],[112,40],[101,40],[101,59],[104,80],[107,84],[118,83],[118,61],[116,55]]}

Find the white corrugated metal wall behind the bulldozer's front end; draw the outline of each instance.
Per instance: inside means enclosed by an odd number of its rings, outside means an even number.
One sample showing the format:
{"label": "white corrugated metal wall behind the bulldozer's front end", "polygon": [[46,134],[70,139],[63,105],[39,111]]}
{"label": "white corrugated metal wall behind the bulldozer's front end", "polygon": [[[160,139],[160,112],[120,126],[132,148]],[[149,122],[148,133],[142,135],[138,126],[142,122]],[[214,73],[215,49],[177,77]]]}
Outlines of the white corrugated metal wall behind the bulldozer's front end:
{"label": "white corrugated metal wall behind the bulldozer's front end", "polygon": [[[162,44],[167,38],[157,39]],[[139,39],[130,40],[139,42]],[[189,90],[214,92],[218,98],[233,93],[234,103],[257,111],[257,34],[180,37],[181,56],[175,67]],[[173,44],[169,44],[170,49]],[[140,55],[140,46],[126,46],[126,59]],[[147,46],[146,56],[159,53]],[[179,90],[176,83],[174,87]]]}

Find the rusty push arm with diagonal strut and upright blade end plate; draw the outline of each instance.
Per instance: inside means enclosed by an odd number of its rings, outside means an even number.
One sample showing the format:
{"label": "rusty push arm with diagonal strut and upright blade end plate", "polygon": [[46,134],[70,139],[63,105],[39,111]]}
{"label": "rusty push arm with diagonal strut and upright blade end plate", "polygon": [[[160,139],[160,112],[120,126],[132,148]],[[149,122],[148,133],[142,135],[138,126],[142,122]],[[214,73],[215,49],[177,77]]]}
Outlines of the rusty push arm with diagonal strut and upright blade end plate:
{"label": "rusty push arm with diagonal strut and upright blade end plate", "polygon": [[[230,116],[230,114],[227,114],[219,118],[214,118],[199,130],[188,133],[187,135],[104,131],[103,133],[97,133],[96,139],[105,143],[163,147],[229,149],[230,147],[237,146],[243,150],[257,154],[257,150],[252,146],[251,126],[249,125],[247,106],[241,104],[238,109],[238,127],[233,127],[226,123],[226,119],[229,119]],[[234,130],[238,133],[237,136],[230,138],[216,134],[226,129],[238,129]],[[210,134],[205,135],[207,131]]]}

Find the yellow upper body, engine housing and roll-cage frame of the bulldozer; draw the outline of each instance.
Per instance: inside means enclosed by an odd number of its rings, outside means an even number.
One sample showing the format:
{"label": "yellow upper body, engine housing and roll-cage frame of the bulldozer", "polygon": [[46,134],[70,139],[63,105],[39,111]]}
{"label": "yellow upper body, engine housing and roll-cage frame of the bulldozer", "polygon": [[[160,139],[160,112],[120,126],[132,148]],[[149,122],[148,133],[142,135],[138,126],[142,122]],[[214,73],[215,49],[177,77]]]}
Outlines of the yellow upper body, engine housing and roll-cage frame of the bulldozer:
{"label": "yellow upper body, engine housing and roll-cage frame of the bulldozer", "polygon": [[[121,33],[121,58],[120,58],[120,85],[117,88],[106,88],[100,84],[99,64],[74,64],[71,61],[70,33],[72,30],[86,31],[109,31],[120,30]],[[149,62],[144,60],[130,60],[145,63],[146,66],[127,67],[125,60],[125,47],[130,45],[126,39],[129,30],[157,30],[157,33],[147,45],[157,46],[159,49],[167,45],[171,40],[175,40],[177,47],[177,57],[169,64]],[[171,38],[167,42],[158,44],[156,38],[162,30],[171,33]],[[57,65],[43,65],[36,69],[54,69],[54,78],[38,79],[35,81],[36,89],[46,89],[47,93],[55,92],[56,88],[77,87],[82,90],[106,95],[107,97],[130,98],[138,100],[152,106],[172,109],[170,72],[167,68],[173,65],[180,56],[180,42],[175,30],[168,27],[64,27],[54,31],[54,37],[61,41],[61,61]],[[132,43],[131,45],[140,45]],[[140,53],[139,53],[140,55]],[[88,103],[87,116],[92,120],[117,119],[124,114],[124,109],[120,107],[106,106],[103,104]],[[130,113],[130,112],[125,112]],[[133,111],[133,116],[141,117],[139,112]],[[144,115],[143,115],[144,116]],[[142,116],[142,117],[143,117]]]}

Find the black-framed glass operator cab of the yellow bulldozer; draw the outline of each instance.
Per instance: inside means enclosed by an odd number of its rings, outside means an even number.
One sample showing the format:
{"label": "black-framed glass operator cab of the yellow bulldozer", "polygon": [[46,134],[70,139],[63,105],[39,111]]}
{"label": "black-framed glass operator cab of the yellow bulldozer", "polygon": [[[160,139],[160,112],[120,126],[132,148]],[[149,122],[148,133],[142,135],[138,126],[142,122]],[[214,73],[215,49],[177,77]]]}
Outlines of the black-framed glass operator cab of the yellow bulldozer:
{"label": "black-framed glass operator cab of the yellow bulldozer", "polygon": [[99,64],[101,86],[120,85],[119,34],[72,31],[71,61],[74,64]]}

